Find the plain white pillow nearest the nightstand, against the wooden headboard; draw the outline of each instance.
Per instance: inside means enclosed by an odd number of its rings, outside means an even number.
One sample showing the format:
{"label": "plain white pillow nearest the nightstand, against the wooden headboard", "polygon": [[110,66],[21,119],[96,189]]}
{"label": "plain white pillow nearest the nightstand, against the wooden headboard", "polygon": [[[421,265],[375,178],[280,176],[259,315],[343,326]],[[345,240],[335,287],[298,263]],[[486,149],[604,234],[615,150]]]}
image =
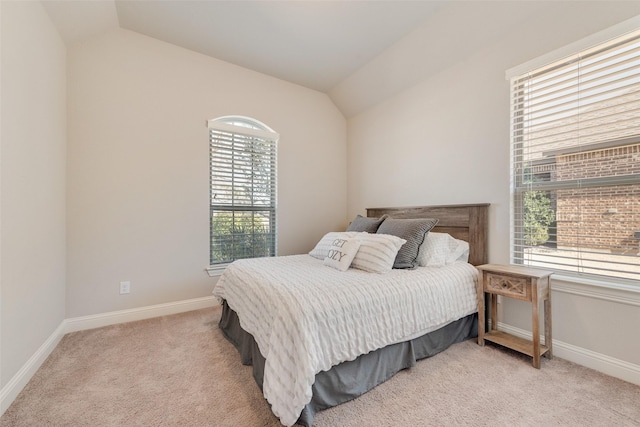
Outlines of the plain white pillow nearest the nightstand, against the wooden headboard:
{"label": "plain white pillow nearest the nightstand, against the wooden headboard", "polygon": [[418,264],[421,267],[442,267],[468,260],[469,243],[447,233],[429,232],[418,252]]}

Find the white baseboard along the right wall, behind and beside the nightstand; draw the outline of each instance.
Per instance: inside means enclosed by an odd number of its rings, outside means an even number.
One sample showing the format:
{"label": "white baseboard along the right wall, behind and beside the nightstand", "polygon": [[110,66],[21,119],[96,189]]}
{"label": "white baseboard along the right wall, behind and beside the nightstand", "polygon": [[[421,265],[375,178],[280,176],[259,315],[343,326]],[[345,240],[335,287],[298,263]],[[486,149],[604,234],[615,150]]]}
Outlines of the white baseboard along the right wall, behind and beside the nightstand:
{"label": "white baseboard along the right wall, behind and beside the nightstand", "polygon": [[[517,337],[531,339],[531,332],[498,322],[498,329]],[[544,339],[541,336],[540,342]],[[625,362],[606,354],[597,353],[566,342],[553,340],[553,355],[569,362],[591,368],[603,374],[620,378],[621,380],[640,385],[640,365]]]}

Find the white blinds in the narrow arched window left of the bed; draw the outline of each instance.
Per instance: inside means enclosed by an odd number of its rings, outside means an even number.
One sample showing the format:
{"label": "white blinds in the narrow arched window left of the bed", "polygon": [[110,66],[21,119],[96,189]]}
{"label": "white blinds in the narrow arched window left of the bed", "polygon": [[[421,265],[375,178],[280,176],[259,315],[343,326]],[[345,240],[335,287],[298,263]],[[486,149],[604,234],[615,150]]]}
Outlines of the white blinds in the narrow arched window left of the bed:
{"label": "white blinds in the narrow arched window left of the bed", "polygon": [[247,118],[208,125],[210,264],[275,256],[278,134]]}

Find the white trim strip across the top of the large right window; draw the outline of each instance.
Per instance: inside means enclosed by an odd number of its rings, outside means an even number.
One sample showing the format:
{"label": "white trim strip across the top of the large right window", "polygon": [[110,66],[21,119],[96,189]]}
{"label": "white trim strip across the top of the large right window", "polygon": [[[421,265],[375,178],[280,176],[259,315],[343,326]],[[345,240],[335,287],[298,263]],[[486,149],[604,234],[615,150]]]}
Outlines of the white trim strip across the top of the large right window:
{"label": "white trim strip across the top of the large right window", "polygon": [[534,58],[530,61],[525,62],[524,64],[509,68],[505,73],[505,77],[507,80],[511,80],[513,77],[527,73],[536,68],[544,67],[547,64],[574,55],[576,52],[589,49],[597,44],[604,43],[613,38],[620,37],[623,34],[635,31],[638,28],[640,28],[640,15],[634,16],[633,18],[627,19],[626,21],[622,21],[619,24],[606,28],[595,34],[591,34],[590,36],[556,49],[545,55]]}

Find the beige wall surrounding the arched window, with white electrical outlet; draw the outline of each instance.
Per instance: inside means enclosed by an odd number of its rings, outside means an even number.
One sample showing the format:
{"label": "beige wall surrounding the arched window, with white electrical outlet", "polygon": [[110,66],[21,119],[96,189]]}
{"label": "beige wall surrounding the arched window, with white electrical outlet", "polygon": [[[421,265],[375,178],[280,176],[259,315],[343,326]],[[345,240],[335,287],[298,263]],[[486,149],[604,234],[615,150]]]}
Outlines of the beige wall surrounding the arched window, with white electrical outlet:
{"label": "beige wall surrounding the arched window, with white electrical outlet", "polygon": [[211,295],[207,119],[280,134],[280,255],[345,226],[346,121],[325,94],[115,29],[69,49],[68,104],[69,318]]}

